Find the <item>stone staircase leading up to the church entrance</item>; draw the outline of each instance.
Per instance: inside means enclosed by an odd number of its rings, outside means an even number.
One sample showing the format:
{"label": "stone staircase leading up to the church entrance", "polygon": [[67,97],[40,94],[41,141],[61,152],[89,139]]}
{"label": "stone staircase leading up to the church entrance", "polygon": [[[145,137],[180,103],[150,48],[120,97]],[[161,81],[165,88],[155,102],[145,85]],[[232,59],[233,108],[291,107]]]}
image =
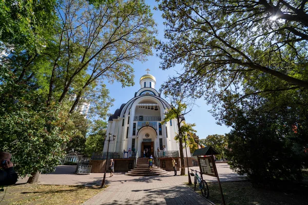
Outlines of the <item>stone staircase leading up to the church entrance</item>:
{"label": "stone staircase leading up to the church entrance", "polygon": [[150,171],[149,165],[148,165],[148,159],[149,159],[148,157],[138,158],[137,164],[134,167],[134,169],[128,171],[125,174],[128,176],[157,176],[157,175],[167,175],[168,174],[168,172],[166,172],[165,170],[157,166],[157,161],[155,158],[154,158],[154,163],[152,166],[152,171]]}

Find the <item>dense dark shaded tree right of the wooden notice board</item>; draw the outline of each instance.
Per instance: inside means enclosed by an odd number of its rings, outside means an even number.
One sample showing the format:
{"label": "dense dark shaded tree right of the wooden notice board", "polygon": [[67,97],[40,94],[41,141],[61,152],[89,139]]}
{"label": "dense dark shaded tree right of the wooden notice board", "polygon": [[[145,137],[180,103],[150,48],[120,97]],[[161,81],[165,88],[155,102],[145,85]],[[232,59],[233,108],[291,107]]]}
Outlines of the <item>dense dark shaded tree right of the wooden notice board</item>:
{"label": "dense dark shaded tree right of the wooden notice board", "polygon": [[251,96],[226,111],[230,168],[257,183],[300,180],[308,147],[306,92]]}

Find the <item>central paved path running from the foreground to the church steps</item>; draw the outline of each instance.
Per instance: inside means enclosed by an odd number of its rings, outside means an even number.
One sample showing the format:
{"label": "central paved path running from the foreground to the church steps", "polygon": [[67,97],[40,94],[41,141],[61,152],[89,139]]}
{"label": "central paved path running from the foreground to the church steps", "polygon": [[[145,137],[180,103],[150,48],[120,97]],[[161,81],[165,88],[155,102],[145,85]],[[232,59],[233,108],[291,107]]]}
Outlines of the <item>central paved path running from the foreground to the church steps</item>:
{"label": "central paved path running from the foreground to the church steps", "polygon": [[211,204],[183,185],[188,176],[108,177],[106,190],[90,198],[90,204]]}

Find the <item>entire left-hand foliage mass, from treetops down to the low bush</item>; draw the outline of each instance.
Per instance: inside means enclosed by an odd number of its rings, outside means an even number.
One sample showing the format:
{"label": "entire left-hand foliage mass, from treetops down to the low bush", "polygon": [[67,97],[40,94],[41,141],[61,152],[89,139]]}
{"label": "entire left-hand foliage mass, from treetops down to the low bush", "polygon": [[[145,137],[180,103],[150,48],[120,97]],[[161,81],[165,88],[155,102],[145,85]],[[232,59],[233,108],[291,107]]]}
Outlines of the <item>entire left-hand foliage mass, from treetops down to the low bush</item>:
{"label": "entire left-hand foliage mass, from treetops down to the low bush", "polygon": [[66,142],[67,151],[103,148],[104,128],[84,145],[80,107],[106,118],[104,82],[133,85],[131,65],[152,54],[155,26],[142,0],[0,1],[0,147],[21,176],[58,165]]}

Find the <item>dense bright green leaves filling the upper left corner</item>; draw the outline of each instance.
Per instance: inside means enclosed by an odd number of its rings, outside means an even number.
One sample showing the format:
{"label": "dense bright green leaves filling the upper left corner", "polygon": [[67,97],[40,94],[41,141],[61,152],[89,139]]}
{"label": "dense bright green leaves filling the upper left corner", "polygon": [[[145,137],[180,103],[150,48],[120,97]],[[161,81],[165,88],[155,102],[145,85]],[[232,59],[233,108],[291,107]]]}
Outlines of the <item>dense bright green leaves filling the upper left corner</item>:
{"label": "dense bright green leaves filling the upper left corner", "polygon": [[38,52],[55,33],[55,0],[0,2],[0,40],[14,50]]}

